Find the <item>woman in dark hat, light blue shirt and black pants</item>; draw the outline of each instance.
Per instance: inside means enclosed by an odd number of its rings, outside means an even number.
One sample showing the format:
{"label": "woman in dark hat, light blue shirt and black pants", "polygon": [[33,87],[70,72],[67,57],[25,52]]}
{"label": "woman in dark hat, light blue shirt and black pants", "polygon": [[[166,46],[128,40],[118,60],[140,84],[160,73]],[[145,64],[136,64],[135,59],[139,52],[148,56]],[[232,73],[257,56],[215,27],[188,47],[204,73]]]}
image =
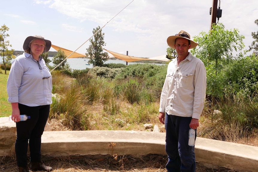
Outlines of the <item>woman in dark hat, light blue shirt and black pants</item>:
{"label": "woman in dark hat, light blue shirt and black pants", "polygon": [[[28,141],[32,171],[52,171],[41,162],[41,136],[52,103],[52,78],[40,54],[48,52],[51,41],[42,36],[25,39],[25,53],[13,60],[7,80],[8,101],[12,105],[12,120],[16,122],[15,153],[18,172],[28,172]],[[20,121],[20,115],[28,115]],[[20,121],[20,122],[19,122]]]}

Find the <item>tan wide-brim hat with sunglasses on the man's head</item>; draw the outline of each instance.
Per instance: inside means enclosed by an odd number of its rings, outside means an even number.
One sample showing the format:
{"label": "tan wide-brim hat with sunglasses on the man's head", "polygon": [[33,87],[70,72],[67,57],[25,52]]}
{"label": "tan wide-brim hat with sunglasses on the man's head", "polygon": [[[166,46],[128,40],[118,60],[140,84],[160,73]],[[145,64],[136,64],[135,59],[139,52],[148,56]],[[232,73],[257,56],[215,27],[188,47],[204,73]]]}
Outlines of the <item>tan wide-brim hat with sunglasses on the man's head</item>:
{"label": "tan wide-brim hat with sunglasses on the man's head", "polygon": [[[168,45],[171,47],[171,48],[174,48],[175,49],[175,41],[177,38],[185,38],[185,39],[188,39],[190,40],[190,44],[191,44],[191,48],[195,48],[198,43],[197,42],[194,42],[193,40],[191,40],[191,37],[190,35],[186,32],[186,31],[183,31],[181,30],[178,34],[175,34],[173,36],[169,36],[168,39],[167,39],[167,43]],[[191,49],[190,48],[190,49]]]}

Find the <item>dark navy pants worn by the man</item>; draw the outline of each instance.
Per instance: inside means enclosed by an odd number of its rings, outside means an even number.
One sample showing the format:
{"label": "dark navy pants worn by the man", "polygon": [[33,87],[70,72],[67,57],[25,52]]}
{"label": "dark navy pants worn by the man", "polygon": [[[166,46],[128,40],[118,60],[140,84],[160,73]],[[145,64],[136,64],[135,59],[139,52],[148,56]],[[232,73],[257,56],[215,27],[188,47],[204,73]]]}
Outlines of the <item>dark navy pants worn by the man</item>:
{"label": "dark navy pants worn by the man", "polygon": [[167,113],[165,115],[165,149],[168,154],[166,169],[168,172],[196,171],[194,146],[188,145],[191,120],[192,117],[180,117]]}

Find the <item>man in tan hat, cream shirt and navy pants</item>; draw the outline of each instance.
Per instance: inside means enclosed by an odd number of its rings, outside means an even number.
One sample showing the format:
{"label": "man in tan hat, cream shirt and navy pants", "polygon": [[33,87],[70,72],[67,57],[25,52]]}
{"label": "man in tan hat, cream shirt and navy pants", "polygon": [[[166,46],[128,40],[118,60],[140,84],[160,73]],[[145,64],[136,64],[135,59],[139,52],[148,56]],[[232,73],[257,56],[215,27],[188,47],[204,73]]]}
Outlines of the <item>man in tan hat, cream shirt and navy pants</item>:
{"label": "man in tan hat, cream shirt and navy pants", "polygon": [[176,49],[177,58],[168,65],[160,96],[159,120],[166,128],[168,172],[195,172],[194,146],[188,145],[189,129],[199,127],[206,93],[203,62],[188,52],[198,43],[185,31],[169,36],[167,43]]}

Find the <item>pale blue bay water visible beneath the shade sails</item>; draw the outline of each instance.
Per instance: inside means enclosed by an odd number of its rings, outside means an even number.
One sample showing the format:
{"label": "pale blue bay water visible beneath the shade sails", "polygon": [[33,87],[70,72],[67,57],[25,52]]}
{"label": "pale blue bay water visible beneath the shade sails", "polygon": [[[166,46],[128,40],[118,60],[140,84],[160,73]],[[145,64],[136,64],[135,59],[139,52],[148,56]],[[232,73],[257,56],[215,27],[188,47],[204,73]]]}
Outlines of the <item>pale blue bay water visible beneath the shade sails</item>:
{"label": "pale blue bay water visible beneath the shade sails", "polygon": [[[54,66],[54,64],[52,63],[52,60],[53,60],[53,57],[48,57],[51,62],[49,63],[50,66]],[[78,69],[78,70],[83,70],[83,69],[86,69],[86,68],[92,68],[92,64],[90,65],[86,65],[88,64],[88,61],[89,59],[83,59],[83,58],[68,58],[66,59],[67,62],[66,63],[69,63],[70,65],[70,68],[71,69]],[[0,58],[0,63],[3,62],[3,59],[2,57]],[[107,63],[122,63],[122,64],[125,64],[126,65],[126,61],[124,60],[107,60],[104,62],[105,64]],[[128,65],[130,64],[138,64],[138,63],[135,63],[135,62],[128,62]],[[164,65],[164,64],[156,64],[156,65]],[[55,66],[54,66],[55,67]]]}

